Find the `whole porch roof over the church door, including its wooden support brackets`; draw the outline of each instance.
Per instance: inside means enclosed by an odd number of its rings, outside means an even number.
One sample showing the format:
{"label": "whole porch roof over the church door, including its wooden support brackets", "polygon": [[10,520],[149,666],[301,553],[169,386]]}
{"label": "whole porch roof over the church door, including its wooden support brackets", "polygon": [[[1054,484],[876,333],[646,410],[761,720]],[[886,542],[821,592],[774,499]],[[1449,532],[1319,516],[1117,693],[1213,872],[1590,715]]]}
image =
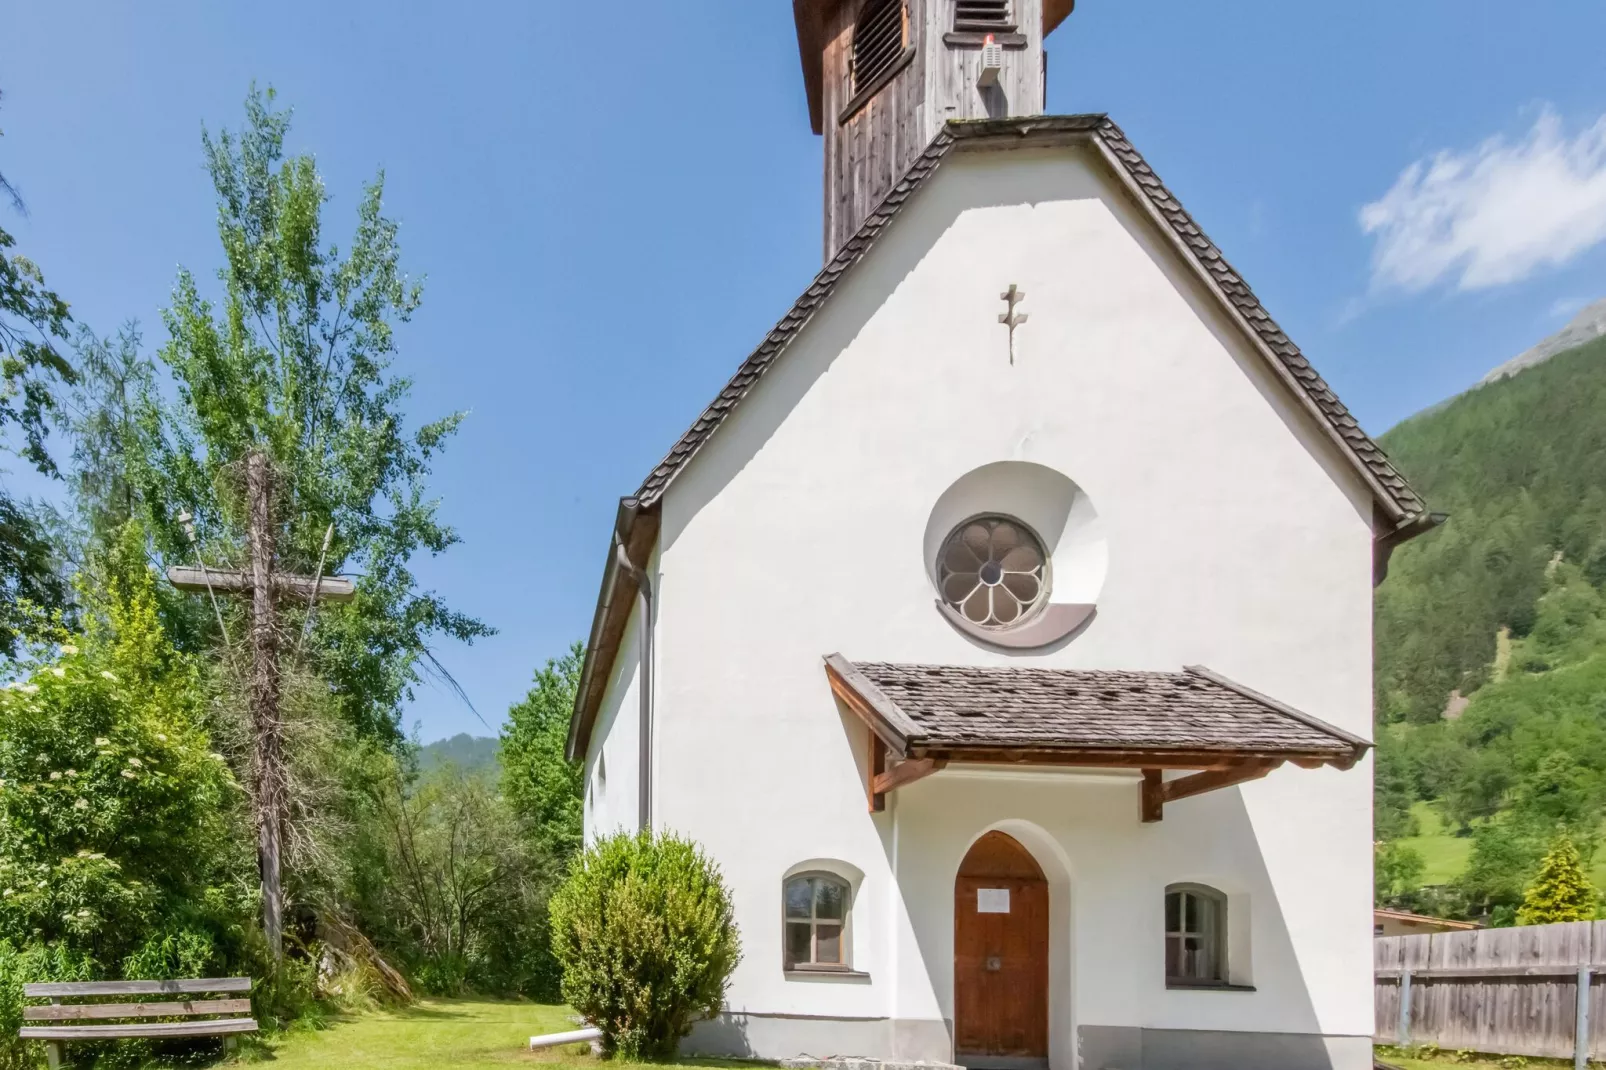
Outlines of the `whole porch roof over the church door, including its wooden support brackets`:
{"label": "whole porch roof over the church door, including its wooden support brackets", "polygon": [[[949,762],[1127,768],[1142,813],[1291,762],[1347,770],[1372,744],[1208,668],[1179,673],[895,665],[825,657],[837,699],[870,733],[870,810]],[[1164,779],[1164,770],[1200,770]]]}

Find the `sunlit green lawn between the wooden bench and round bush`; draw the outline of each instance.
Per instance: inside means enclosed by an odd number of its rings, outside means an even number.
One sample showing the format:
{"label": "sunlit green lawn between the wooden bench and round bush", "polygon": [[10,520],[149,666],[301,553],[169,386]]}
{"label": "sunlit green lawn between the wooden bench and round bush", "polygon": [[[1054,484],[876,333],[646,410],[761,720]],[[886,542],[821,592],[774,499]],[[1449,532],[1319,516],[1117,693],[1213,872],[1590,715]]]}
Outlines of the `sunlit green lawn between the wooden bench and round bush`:
{"label": "sunlit green lawn between the wooden bench and round bush", "polygon": [[[402,1011],[332,1019],[328,1028],[299,1028],[243,1052],[273,1070],[477,1070],[543,1067],[602,1070],[583,1044],[530,1051],[530,1038],[577,1028],[567,1007],[493,999],[421,999]],[[609,1068],[628,1064],[610,1062]],[[707,1059],[663,1065],[753,1065]]]}

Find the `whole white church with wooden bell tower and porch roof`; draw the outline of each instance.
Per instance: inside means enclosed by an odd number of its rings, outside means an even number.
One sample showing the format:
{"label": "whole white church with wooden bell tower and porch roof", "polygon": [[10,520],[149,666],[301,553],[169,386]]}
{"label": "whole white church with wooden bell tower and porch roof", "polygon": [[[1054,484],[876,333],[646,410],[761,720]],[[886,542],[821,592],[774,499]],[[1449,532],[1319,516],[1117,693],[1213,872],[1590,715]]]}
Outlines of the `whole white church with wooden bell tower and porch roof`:
{"label": "whole white church with wooden bell tower and porch roof", "polygon": [[[620,501],[586,832],[736,901],[683,1051],[1372,1067],[1372,588],[1436,522],[1071,0],[795,0],[825,267]],[[602,548],[599,548],[602,549]]]}

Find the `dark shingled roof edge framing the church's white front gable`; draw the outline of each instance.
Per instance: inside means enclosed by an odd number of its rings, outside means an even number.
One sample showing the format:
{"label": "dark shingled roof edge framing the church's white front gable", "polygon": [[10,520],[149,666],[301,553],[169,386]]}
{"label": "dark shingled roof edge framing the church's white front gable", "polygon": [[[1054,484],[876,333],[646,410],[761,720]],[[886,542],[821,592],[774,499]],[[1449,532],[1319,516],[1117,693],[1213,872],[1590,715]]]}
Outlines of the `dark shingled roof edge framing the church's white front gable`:
{"label": "dark shingled roof edge framing the church's white front gable", "polygon": [[1333,440],[1355,464],[1357,471],[1373,488],[1373,495],[1384,513],[1394,522],[1426,511],[1425,503],[1410,488],[1383,450],[1360,429],[1331,387],[1317,374],[1310,361],[1306,360],[1299,347],[1294,345],[1282,328],[1256,299],[1254,291],[1243,278],[1232,270],[1222,257],[1221,249],[1200,230],[1193,217],[1155,175],[1155,170],[1143,161],[1132,143],[1127,141],[1121,129],[1107,116],[1036,116],[1025,119],[984,119],[967,122],[949,122],[915,157],[904,177],[893,186],[887,199],[864,220],[859,231],[850,238],[830,263],[814,276],[814,281],[803,291],[797,304],[781,318],[781,321],[764,336],[764,341],[736,370],[731,381],[719,390],[719,395],[702,411],[692,426],[681,435],[636,492],[642,506],[652,506],[668,487],[675,474],[702,448],[703,442],[724,423],[724,418],[742,402],[760,378],[779,358],[793,337],[813,320],[814,313],[830,299],[837,284],[848,270],[869,252],[875,239],[887,230],[903,206],[915,191],[936,172],[938,165],[959,148],[991,148],[1055,141],[1090,141],[1103,151],[1103,156],[1116,165],[1116,170],[1127,180],[1147,202],[1155,217],[1161,220],[1177,239],[1193,262],[1201,268],[1211,286],[1232,313],[1241,318],[1253,333],[1264,352],[1275,361],[1280,378],[1288,382],[1298,397],[1304,400],[1314,416],[1322,419]]}

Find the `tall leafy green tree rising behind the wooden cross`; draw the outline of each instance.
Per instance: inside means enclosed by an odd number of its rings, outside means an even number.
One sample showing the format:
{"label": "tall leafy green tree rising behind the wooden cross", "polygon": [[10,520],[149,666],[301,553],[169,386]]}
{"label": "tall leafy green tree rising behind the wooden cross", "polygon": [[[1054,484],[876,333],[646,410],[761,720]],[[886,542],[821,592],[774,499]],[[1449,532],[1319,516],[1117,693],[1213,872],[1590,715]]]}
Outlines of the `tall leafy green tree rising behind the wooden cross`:
{"label": "tall leafy green tree rising behind the wooden cross", "polygon": [[188,509],[212,562],[239,564],[238,466],[265,450],[279,474],[281,566],[313,572],[332,524],[326,572],[358,575],[352,602],[318,612],[315,670],[353,726],[400,742],[400,702],[435,665],[430,639],[490,635],[419,590],[408,567],[458,541],[426,477],[461,413],[405,431],[410,382],[389,366],[421,288],[400,265],[384,175],[365,188],[342,254],[323,238],[328,194],[313,157],[286,156],[289,122],[273,90],[254,88],[244,127],[202,135],[222,296],[214,304],[180,273],[159,353],[177,390],[145,392],[125,479],[165,557],[193,556],[178,522]]}

